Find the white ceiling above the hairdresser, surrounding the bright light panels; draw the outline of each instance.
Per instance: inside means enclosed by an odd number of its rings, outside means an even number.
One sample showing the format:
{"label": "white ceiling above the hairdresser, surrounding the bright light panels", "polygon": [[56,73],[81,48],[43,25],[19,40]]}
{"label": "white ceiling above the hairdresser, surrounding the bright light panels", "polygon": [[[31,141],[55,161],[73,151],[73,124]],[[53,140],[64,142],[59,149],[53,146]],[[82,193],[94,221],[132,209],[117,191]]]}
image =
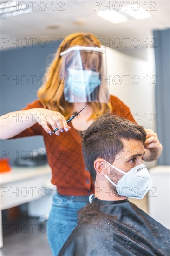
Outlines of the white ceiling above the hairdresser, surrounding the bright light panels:
{"label": "white ceiling above the hairdresser, surrounding the bright light panels", "polygon": [[[20,1],[19,1],[20,2]],[[32,7],[30,1],[27,2],[27,6]],[[55,1],[55,10],[53,10],[54,0],[46,0],[47,8],[45,11],[43,1],[32,1],[35,3],[35,10],[31,13],[21,14],[9,18],[1,19],[1,50],[16,47],[10,43],[2,45],[2,39],[14,41],[18,38],[19,42],[23,38],[29,40],[30,38],[36,38],[38,41],[41,38],[46,40],[52,40],[59,38],[65,38],[68,34],[75,32],[89,32],[94,34],[97,38],[100,38],[105,44],[109,39],[111,40],[111,47],[123,52],[131,52],[146,48],[146,40],[148,38],[149,45],[153,38],[152,30],[166,29],[170,27],[170,1],[169,0],[157,0],[157,1],[144,1],[138,0],[141,7],[146,9],[144,3],[148,2],[148,12],[151,14],[151,18],[144,20],[129,20],[124,23],[112,24],[97,15],[97,11],[102,9],[109,9],[104,6],[111,3],[111,8],[115,2],[119,2],[122,7],[124,3],[122,1],[93,1],[93,0],[62,0]],[[101,7],[97,7],[94,10],[95,3],[101,4]],[[133,2],[133,1],[131,1]],[[38,6],[40,4],[40,8]],[[63,7],[61,7],[63,5]],[[157,5],[157,6],[156,6]],[[115,5],[118,8],[118,5]],[[59,10],[63,9],[63,10]],[[157,9],[157,10],[152,10]],[[77,22],[78,21],[78,22]],[[78,24],[77,24],[78,23]],[[49,29],[48,26],[59,26],[58,29]],[[121,47],[115,47],[114,39],[119,38],[122,42]],[[127,48],[125,47],[123,38],[128,38]],[[137,38],[140,41],[140,47],[131,47],[131,40]],[[31,42],[31,41],[30,41]],[[118,43],[118,41],[115,41]],[[31,45],[32,43],[30,43]],[[105,44],[109,47],[109,44]],[[20,47],[20,43],[19,43]]]}

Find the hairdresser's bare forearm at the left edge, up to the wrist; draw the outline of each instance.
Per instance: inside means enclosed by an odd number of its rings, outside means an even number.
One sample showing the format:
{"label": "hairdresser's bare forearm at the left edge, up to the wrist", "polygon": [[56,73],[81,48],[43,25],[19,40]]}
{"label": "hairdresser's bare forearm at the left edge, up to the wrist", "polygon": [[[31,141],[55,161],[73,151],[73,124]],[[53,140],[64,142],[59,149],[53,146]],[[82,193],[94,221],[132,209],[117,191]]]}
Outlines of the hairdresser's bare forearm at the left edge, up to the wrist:
{"label": "hairdresser's bare forearm at the left edge, up to the wrist", "polygon": [[38,112],[39,109],[33,108],[2,115],[0,117],[0,139],[9,139],[33,126],[37,122]]}

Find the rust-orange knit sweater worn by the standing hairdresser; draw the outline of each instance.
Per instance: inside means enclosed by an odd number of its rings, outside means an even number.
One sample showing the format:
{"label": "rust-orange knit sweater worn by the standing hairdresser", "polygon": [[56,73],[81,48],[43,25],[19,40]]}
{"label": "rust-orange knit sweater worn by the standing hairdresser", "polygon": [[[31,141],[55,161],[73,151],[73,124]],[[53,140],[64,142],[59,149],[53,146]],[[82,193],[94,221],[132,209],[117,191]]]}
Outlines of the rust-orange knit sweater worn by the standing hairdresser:
{"label": "rust-orange knit sweater worn by the standing hairdresser", "polygon": [[[130,109],[117,97],[111,95],[113,114],[119,115],[133,122]],[[39,100],[28,104],[26,108],[43,108]],[[92,177],[85,167],[82,155],[82,138],[72,126],[69,132],[60,133],[60,136],[50,136],[38,123],[27,128],[20,134],[10,138],[22,138],[42,135],[46,146],[49,166],[52,169],[52,184],[57,186],[63,195],[90,195],[94,193]]]}

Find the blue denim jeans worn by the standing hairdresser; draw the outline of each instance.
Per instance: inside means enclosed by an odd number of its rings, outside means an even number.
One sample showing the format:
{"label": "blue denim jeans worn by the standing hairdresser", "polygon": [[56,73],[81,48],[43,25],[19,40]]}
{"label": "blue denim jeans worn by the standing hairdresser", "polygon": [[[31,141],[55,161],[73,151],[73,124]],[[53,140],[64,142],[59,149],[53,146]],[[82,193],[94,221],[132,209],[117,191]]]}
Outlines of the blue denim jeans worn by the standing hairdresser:
{"label": "blue denim jeans worn by the standing hairdresser", "polygon": [[86,202],[75,202],[55,194],[52,199],[52,208],[47,221],[47,236],[52,255],[57,256],[68,236],[76,227],[78,222],[79,209],[85,206]]}

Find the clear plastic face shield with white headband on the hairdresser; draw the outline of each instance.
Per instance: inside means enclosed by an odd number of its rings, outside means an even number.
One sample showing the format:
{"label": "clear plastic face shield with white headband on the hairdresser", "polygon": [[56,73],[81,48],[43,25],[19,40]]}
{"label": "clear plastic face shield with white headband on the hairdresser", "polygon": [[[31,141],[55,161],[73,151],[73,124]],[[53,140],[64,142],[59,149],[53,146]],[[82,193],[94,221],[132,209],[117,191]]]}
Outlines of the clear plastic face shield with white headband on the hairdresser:
{"label": "clear plastic face shield with white headband on the hairdresser", "polygon": [[65,100],[108,103],[106,52],[103,48],[74,46],[60,53]]}

